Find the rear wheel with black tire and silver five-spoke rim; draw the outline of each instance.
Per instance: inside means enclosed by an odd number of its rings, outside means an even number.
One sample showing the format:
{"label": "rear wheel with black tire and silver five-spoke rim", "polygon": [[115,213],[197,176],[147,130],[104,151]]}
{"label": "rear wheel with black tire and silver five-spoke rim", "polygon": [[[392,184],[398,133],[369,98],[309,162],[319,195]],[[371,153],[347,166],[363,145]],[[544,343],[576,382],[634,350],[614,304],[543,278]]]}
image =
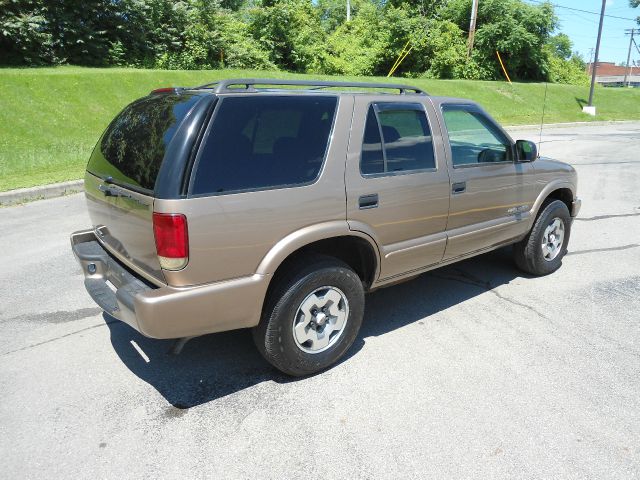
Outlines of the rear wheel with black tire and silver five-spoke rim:
{"label": "rear wheel with black tire and silver five-spoke rim", "polygon": [[287,375],[322,371],[351,347],[362,324],[364,288],[347,264],[306,257],[271,289],[253,339],[262,356]]}

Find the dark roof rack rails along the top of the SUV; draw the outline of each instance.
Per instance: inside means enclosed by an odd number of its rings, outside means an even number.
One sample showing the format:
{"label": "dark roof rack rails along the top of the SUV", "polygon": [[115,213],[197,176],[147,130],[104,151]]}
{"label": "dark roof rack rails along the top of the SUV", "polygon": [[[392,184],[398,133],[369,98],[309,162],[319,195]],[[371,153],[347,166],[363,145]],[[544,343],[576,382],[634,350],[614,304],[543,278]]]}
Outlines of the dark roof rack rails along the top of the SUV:
{"label": "dark roof rack rails along the top of the SUV", "polygon": [[[234,86],[235,85],[235,86]],[[256,85],[274,85],[274,86],[308,86],[314,87],[312,90],[319,90],[322,88],[386,88],[390,90],[399,90],[400,95],[405,95],[407,92],[413,92],[417,95],[428,95],[427,92],[411,85],[401,85],[397,83],[367,83],[367,82],[334,82],[325,80],[276,80],[273,78],[229,78],[226,80],[220,80],[219,82],[207,83],[194,87],[194,89],[211,88],[214,93],[237,93],[239,91],[245,92],[259,92],[264,89],[256,88]],[[244,87],[244,88],[241,88]]]}

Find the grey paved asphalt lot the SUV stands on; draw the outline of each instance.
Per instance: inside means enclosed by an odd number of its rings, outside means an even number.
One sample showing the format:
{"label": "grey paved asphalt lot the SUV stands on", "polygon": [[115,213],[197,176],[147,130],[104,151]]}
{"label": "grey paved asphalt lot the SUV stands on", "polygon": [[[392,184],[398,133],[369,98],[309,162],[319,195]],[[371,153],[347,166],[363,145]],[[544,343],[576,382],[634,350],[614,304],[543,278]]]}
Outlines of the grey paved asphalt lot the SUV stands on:
{"label": "grey paved asphalt lot the SUV stands on", "polygon": [[375,292],[350,356],[297,381],[245,331],[175,357],[104,317],[81,195],[0,209],[0,476],[639,478],[640,123],[543,140],[584,201],[558,272],[498,251]]}

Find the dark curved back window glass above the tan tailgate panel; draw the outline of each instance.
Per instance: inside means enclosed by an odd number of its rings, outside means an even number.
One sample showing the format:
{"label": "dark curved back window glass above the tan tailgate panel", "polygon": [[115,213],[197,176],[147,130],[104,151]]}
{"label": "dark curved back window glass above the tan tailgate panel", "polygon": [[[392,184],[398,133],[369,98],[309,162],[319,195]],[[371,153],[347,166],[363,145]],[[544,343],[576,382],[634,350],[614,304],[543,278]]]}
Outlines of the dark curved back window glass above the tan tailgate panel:
{"label": "dark curved back window glass above the tan tailgate panel", "polygon": [[116,183],[153,190],[165,151],[197,95],[151,95],[127,106],[109,125],[87,170]]}

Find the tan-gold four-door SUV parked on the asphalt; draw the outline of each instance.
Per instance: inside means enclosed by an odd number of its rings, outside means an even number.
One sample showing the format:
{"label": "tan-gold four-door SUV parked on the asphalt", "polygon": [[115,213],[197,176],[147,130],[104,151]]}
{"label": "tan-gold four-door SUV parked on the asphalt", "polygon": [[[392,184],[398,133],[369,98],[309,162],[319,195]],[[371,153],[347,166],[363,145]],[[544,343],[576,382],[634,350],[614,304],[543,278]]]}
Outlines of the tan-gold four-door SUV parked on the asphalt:
{"label": "tan-gold four-door SUV parked on the asphalt", "polygon": [[[224,80],[151,92],[96,145],[89,294],[154,338],[252,328],[291,375],[349,349],[365,293],[514,244],[560,267],[576,172],[477,104],[398,84]],[[534,161],[535,160],[535,161]]]}

